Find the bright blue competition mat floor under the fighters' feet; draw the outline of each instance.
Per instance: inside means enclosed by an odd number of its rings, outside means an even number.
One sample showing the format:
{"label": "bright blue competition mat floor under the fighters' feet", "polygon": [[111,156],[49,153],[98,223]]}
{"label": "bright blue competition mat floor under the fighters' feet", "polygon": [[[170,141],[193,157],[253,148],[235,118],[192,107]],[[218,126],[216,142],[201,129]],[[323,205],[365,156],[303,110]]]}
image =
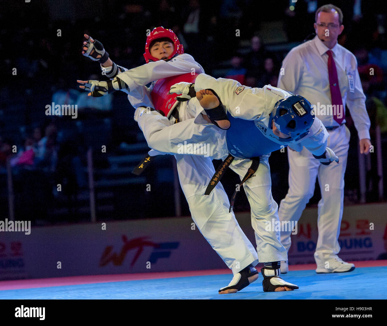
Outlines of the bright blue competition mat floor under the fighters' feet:
{"label": "bright blue competition mat floor under the fighters' feet", "polygon": [[[260,273],[259,273],[260,274]],[[299,290],[263,292],[262,275],[234,294],[217,294],[232,275],[191,276],[0,291],[0,299],[387,299],[387,266],[349,273],[290,271],[284,280]]]}

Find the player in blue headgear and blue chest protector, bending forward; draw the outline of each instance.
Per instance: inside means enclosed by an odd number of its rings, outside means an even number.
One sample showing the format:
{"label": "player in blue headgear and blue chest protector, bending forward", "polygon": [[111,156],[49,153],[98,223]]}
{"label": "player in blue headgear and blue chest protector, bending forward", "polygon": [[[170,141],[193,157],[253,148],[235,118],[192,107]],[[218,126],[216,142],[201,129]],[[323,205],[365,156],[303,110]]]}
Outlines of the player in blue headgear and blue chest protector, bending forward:
{"label": "player in blue headgear and blue chest protector, bending forward", "polygon": [[[261,270],[264,291],[284,287],[284,283],[286,290],[298,288],[279,277],[286,249],[279,241],[280,232],[266,228],[273,219],[279,220],[278,206],[271,195],[268,158],[274,150],[286,146],[297,149],[302,145],[324,165],[338,162],[334,152],[327,148],[329,134],[314,117],[310,103],[302,96],[272,86],[248,88],[237,81],[214,79],[206,74],[199,74],[195,83],[173,85],[171,93],[181,94],[178,100],[187,100],[188,105],[194,106],[195,118],[171,126],[159,113],[138,108],[135,120],[149,146],[161,153],[177,153],[182,142],[205,142],[212,156],[225,159],[206,193],[211,194],[218,187],[216,182],[226,166],[240,175],[251,206],[259,261],[265,265]],[[213,128],[192,129],[192,124],[207,128],[212,122],[227,130],[212,133]]]}

